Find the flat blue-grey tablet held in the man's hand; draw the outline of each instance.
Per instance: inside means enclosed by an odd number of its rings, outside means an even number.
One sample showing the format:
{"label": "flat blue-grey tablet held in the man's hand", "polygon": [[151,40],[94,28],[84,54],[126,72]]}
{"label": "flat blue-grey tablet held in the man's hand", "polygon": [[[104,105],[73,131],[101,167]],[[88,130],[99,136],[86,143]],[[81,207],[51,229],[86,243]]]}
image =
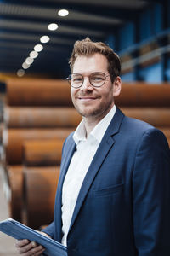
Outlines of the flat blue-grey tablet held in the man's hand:
{"label": "flat blue-grey tablet held in the man's hand", "polygon": [[67,256],[66,247],[58,241],[43,236],[36,230],[32,230],[24,224],[8,218],[0,222],[0,231],[12,236],[15,239],[28,239],[30,241],[36,241],[38,244],[45,248],[43,255],[48,256]]}

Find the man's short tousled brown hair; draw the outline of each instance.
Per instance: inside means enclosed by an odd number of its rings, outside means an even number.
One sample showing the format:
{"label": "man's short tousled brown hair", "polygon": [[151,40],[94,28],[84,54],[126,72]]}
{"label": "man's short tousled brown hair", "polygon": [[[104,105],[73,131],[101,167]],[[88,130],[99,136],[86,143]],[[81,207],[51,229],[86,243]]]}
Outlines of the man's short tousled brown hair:
{"label": "man's short tousled brown hair", "polygon": [[102,42],[93,42],[90,40],[90,38],[85,38],[82,41],[77,41],[74,44],[74,48],[72,50],[71,58],[69,61],[71,72],[78,56],[90,56],[94,55],[95,53],[105,55],[108,61],[108,72],[111,75],[111,80],[114,81],[114,79],[121,73],[121,61],[119,56],[116,55],[113,49],[111,49],[107,44]]}

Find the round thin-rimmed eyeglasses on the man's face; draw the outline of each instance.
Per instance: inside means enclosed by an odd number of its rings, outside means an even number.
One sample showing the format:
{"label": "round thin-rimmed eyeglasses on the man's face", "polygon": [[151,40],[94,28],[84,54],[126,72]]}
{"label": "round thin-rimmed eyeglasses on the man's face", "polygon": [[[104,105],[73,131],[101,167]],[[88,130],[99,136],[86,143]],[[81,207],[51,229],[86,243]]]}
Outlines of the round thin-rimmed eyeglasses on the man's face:
{"label": "round thin-rimmed eyeglasses on the man's face", "polygon": [[[110,75],[105,75],[105,73],[95,72],[95,73],[91,73],[88,76],[88,79],[90,84],[92,84],[94,87],[100,87],[103,84],[105,84],[105,80],[109,76]],[[79,88],[82,86],[84,82],[84,77],[80,73],[71,73],[68,76],[67,81],[72,87]]]}

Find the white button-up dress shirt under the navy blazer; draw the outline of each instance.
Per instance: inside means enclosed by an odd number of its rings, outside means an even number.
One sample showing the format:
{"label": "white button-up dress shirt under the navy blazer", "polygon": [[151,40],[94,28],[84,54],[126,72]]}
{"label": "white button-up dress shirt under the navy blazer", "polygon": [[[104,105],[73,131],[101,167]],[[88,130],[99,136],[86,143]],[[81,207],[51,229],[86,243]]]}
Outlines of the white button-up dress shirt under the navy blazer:
{"label": "white button-up dress shirt under the navy blazer", "polygon": [[77,130],[74,133],[73,139],[77,144],[77,150],[72,156],[70,166],[65,175],[65,181],[62,189],[62,244],[65,246],[67,234],[71,224],[71,218],[74,212],[74,208],[77,203],[77,197],[82,186],[82,182],[88,167],[94,159],[99,143],[101,142],[106,129],[111,123],[111,119],[116,113],[116,106],[111,108],[111,111],[100,120],[93,131],[90,132],[88,138],[86,137],[86,130],[84,121],[78,125]]}

